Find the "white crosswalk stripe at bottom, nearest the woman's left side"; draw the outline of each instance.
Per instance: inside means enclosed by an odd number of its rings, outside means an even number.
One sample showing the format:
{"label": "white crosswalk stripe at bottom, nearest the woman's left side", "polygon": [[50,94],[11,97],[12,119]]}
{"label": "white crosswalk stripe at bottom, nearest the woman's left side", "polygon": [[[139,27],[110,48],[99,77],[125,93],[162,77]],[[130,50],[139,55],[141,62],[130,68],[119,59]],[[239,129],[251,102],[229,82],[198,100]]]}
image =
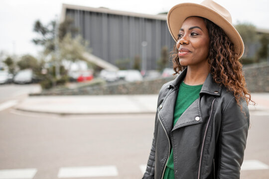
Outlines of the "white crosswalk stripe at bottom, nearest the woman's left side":
{"label": "white crosswalk stripe at bottom, nearest the woman's left side", "polygon": [[58,178],[78,178],[78,177],[112,177],[118,176],[115,166],[100,167],[64,167],[60,168]]}

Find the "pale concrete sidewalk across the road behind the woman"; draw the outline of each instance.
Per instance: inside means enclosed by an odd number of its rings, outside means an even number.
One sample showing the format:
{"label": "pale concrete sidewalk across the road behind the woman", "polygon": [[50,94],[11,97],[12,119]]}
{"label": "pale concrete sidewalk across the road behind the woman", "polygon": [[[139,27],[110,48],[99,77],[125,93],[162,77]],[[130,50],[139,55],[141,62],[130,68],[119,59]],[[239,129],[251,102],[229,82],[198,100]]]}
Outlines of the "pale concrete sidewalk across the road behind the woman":
{"label": "pale concrete sidewalk across the road behind the woman", "polygon": [[[55,114],[155,113],[157,94],[30,96],[14,106],[17,110]],[[250,111],[269,112],[269,93],[253,93]]]}

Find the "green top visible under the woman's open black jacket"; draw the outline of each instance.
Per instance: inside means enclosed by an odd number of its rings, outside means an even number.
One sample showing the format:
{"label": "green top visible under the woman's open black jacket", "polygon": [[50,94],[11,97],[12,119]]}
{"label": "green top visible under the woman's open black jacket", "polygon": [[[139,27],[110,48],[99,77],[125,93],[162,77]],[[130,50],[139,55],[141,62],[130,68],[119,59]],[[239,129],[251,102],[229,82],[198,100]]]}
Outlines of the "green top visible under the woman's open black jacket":
{"label": "green top visible under the woman's open black jacket", "polygon": [[[174,108],[173,126],[181,116],[181,114],[199,97],[199,93],[203,85],[190,86],[183,82],[180,84],[177,94],[177,99]],[[166,164],[163,179],[174,179],[174,160],[173,149]]]}

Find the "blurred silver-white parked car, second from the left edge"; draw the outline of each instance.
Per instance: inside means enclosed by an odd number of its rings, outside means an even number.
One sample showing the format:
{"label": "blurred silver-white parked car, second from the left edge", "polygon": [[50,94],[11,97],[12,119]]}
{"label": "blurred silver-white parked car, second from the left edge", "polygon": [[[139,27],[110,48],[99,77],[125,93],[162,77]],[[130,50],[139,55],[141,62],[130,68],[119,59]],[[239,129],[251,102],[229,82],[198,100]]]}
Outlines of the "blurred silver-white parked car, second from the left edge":
{"label": "blurred silver-white parked car, second from the left edge", "polygon": [[31,69],[21,70],[13,78],[13,82],[16,84],[28,84],[32,83],[33,80],[33,71]]}

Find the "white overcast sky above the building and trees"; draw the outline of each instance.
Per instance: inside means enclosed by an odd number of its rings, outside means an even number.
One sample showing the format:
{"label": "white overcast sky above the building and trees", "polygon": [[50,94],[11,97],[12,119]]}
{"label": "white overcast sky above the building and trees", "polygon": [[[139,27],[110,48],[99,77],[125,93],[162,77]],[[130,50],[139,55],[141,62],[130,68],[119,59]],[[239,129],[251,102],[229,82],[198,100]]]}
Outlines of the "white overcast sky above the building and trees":
{"label": "white overcast sky above the building and trees", "polygon": [[[34,21],[46,24],[60,18],[62,3],[115,10],[157,14],[168,11],[181,2],[200,3],[202,0],[0,0],[0,51],[12,55],[37,55],[31,39]],[[215,0],[227,8],[233,23],[249,22],[269,29],[269,0]]]}

